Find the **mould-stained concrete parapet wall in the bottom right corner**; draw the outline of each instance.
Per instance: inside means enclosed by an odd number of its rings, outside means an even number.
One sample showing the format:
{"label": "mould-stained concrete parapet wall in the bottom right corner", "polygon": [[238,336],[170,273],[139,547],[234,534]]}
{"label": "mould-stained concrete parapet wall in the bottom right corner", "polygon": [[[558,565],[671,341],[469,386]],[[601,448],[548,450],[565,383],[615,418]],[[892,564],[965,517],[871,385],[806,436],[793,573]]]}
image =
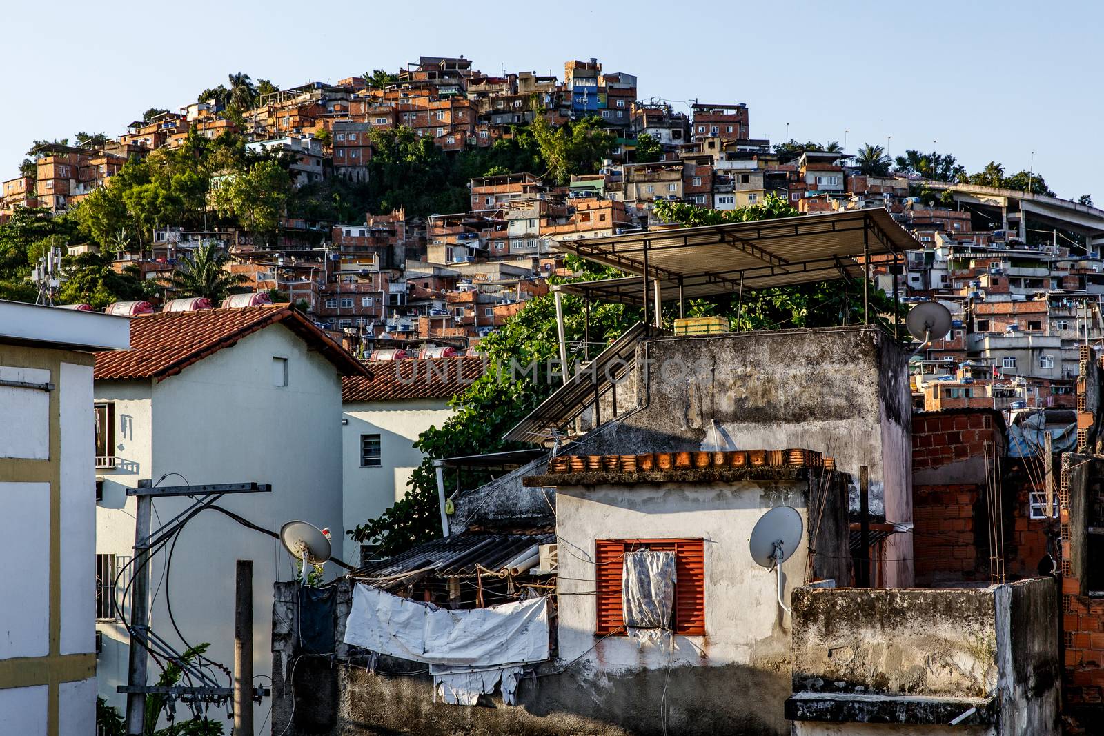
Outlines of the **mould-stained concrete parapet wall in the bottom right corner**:
{"label": "mould-stained concrete parapet wall in the bottom right corner", "polygon": [[887,721],[902,724],[894,733],[943,733],[948,715],[969,707],[979,713],[964,726],[975,733],[1060,733],[1057,595],[1051,578],[797,590],[787,703],[795,733],[874,734],[868,724]]}

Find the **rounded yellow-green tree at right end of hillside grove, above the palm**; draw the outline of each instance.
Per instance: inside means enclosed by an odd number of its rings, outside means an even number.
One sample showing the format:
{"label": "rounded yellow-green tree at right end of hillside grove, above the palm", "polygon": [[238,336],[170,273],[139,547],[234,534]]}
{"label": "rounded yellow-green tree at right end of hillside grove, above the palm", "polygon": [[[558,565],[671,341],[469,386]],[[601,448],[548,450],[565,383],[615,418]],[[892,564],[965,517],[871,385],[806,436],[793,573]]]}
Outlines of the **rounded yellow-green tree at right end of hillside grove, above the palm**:
{"label": "rounded yellow-green tree at right end of hillside grove, above the palm", "polygon": [[291,178],[275,160],[256,162],[214,190],[215,211],[235,217],[245,230],[273,244],[291,192]]}

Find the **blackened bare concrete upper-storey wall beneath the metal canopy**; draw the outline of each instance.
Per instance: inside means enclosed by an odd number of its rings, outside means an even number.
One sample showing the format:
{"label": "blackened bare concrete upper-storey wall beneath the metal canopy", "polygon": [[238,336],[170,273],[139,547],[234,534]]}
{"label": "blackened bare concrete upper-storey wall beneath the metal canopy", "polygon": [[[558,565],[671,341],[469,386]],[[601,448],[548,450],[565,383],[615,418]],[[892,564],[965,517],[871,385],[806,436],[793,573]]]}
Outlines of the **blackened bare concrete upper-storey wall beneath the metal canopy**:
{"label": "blackened bare concrete upper-storey wall beneath the metal canopy", "polygon": [[[725,449],[807,448],[870,473],[871,511],[912,521],[912,399],[904,351],[875,328],[660,338],[640,408],[592,442],[595,455],[701,449],[716,423]],[[851,489],[858,508],[858,488]],[[912,535],[885,541],[890,587],[912,585]]]}

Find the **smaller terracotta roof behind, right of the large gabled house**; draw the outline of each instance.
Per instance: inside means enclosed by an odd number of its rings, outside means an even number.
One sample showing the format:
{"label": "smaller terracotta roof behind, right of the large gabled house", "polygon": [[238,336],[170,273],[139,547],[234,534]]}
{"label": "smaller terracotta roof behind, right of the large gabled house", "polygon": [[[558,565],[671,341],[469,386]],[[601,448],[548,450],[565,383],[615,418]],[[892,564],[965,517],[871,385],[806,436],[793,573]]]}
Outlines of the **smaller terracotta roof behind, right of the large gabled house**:
{"label": "smaller terracotta roof behind, right of the large gabled house", "polygon": [[452,398],[486,371],[484,359],[433,358],[372,363],[372,376],[342,380],[344,402]]}

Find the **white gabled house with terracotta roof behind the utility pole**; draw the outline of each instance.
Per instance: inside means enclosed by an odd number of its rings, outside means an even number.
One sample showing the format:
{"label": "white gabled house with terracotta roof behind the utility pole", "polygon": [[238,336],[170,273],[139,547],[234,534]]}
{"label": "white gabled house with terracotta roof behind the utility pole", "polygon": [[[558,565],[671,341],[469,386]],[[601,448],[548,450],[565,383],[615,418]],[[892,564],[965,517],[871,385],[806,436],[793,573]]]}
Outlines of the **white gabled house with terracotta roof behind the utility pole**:
{"label": "white gabled house with terracotta roof behind the utility pole", "polygon": [[[120,710],[125,698],[116,686],[127,679],[128,637],[114,578],[132,555],[136,506],[126,489],[140,480],[269,483],[270,493],[225,495],[217,505],[267,530],[305,520],[338,534],[341,380],[368,375],[288,306],[136,317],[130,346],[102,353],[95,365],[98,690]],[[91,396],[88,404],[91,410]],[[189,503],[187,497],[155,500],[153,529]],[[208,655],[227,666],[234,565],[253,561],[254,670],[268,672],[273,583],[294,575],[279,542],[204,511],[178,535],[171,565],[169,557],[157,554],[150,564],[152,630],[182,650],[179,627],[189,643],[209,642]],[[124,575],[119,586],[127,580]],[[151,662],[150,670],[152,679],[158,668]],[[258,728],[262,722],[256,718]]]}

